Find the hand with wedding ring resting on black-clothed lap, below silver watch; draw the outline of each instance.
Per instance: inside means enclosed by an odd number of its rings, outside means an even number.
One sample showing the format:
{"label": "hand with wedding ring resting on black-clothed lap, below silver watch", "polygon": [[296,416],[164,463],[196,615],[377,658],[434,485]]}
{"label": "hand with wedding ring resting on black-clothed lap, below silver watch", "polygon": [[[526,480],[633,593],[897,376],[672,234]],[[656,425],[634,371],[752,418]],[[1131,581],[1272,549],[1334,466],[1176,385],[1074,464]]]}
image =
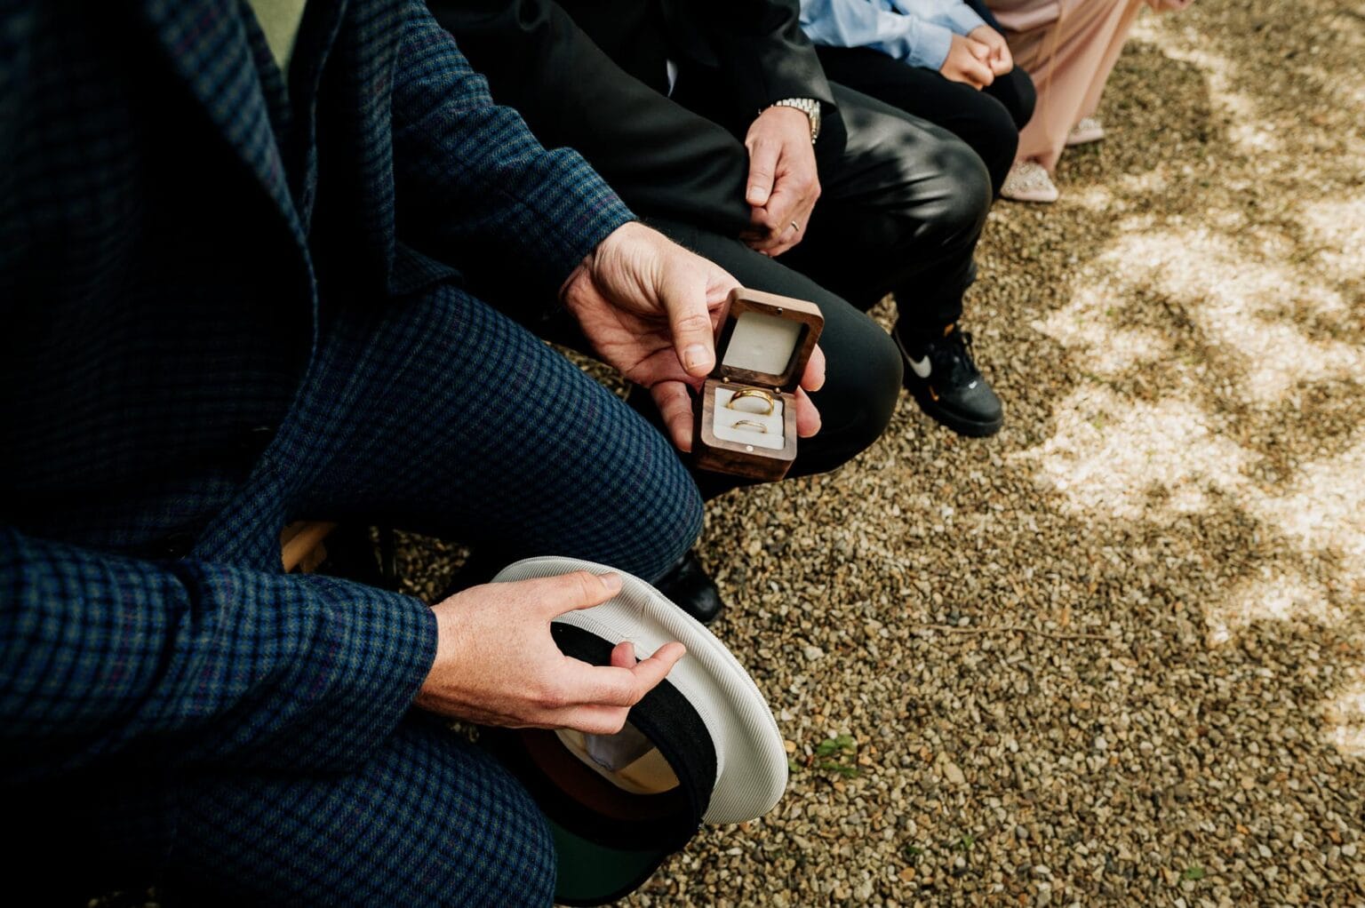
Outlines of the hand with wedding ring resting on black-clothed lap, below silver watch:
{"label": "hand with wedding ring resting on black-clothed lap, below silver watch", "polygon": [[753,209],[744,242],[764,255],[781,255],[801,242],[820,198],[811,145],[811,120],[796,108],[771,107],[749,124],[749,180],[744,201]]}

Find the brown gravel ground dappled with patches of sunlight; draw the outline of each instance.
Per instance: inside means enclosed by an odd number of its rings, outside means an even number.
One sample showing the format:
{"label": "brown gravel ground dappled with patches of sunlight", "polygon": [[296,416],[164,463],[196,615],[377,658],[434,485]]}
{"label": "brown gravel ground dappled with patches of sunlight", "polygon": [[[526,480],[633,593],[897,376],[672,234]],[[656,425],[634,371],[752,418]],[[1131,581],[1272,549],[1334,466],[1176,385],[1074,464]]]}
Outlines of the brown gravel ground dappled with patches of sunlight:
{"label": "brown gravel ground dappled with patches of sunlight", "polygon": [[710,509],[796,771],[631,904],[1365,904],[1362,60],[1362,3],[1144,14],[987,227],[1005,430],[906,396]]}

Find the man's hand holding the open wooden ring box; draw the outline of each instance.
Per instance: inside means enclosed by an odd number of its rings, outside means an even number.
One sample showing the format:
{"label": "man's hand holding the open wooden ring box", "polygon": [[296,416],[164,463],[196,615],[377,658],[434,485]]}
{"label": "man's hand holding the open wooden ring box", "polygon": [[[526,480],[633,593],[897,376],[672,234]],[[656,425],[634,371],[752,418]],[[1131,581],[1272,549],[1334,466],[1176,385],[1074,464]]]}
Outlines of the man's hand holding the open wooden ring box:
{"label": "man's hand holding the open wooden ring box", "polygon": [[[691,451],[688,386],[700,388],[715,367],[715,328],[736,287],[723,269],[662,233],[625,224],[569,274],[562,296],[603,362],[650,389],[673,444]],[[823,382],[824,356],[816,348],[801,384],[816,391]],[[796,418],[803,436],[820,427],[805,395],[797,395]]]}

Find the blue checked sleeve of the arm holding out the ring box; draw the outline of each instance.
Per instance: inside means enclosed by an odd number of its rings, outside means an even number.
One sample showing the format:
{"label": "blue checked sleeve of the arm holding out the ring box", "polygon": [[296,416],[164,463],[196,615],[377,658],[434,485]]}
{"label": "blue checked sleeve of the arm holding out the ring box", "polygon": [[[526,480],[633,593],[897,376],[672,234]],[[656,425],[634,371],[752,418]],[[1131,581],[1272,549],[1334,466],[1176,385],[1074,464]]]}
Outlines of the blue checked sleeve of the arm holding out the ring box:
{"label": "blue checked sleeve of the arm holding out the ring box", "polygon": [[[558,287],[633,214],[568,149],[546,152],[511,108],[497,107],[420,0],[411,0],[393,74],[399,232],[467,274]],[[549,291],[549,295],[545,295]]]}

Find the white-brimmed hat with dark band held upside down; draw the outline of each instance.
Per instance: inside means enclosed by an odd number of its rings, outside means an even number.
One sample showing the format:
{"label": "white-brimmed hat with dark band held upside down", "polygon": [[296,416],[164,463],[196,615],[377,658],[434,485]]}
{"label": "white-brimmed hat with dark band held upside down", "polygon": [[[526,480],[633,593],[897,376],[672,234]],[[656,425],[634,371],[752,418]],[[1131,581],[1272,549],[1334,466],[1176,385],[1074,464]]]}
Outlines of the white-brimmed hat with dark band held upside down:
{"label": "white-brimmed hat with dark band held upside down", "polygon": [[[528,558],[494,583],[613,568],[575,558]],[[786,789],[786,751],[753,679],[700,623],[648,583],[621,575],[621,591],[557,617],[565,655],[607,665],[635,644],[647,658],[670,640],[687,655],[631,707],[618,735],[485,729],[480,741],[535,799],[558,853],[554,898],[599,905],[637,889],[703,823],[768,812]]]}

